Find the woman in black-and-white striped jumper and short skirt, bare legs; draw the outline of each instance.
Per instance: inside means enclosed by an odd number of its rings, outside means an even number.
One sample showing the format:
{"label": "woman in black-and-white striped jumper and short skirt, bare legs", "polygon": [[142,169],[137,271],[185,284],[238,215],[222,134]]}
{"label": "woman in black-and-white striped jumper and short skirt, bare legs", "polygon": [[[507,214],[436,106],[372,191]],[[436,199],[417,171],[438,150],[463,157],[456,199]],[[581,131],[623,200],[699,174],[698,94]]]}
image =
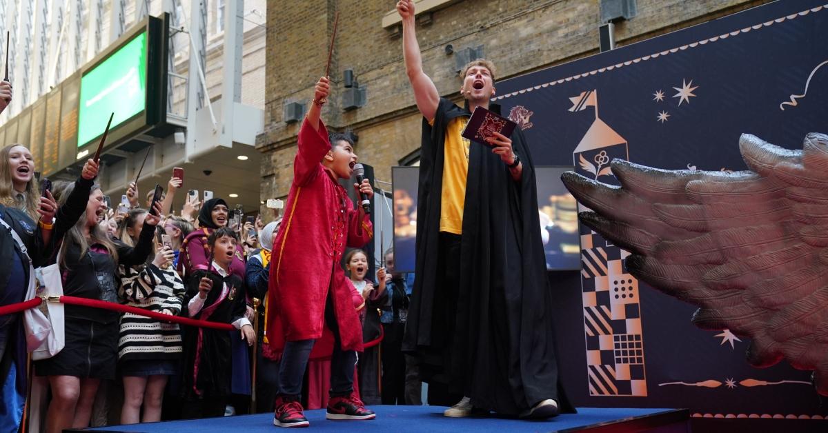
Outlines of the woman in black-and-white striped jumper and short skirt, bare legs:
{"label": "woman in black-and-white striped jumper and short skirt, bare legs", "polygon": [[[123,243],[133,245],[137,242],[137,235],[146,218],[145,209],[128,212],[121,228]],[[119,295],[128,306],[178,315],[184,298],[184,283],[171,267],[174,258],[172,249],[156,243],[156,251],[149,265],[120,268]],[[118,357],[124,390],[121,423],[161,421],[161,402],[167,378],[177,373],[176,361],[181,357],[179,326],[125,313],[121,316]]]}

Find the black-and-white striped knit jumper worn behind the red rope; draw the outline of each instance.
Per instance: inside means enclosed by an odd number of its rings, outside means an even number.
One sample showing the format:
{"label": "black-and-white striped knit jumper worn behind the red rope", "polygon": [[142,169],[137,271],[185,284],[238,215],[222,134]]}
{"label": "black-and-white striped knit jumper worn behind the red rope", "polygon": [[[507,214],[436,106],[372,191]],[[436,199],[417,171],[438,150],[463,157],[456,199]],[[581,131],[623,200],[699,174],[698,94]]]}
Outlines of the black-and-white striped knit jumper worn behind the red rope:
{"label": "black-and-white striped knit jumper worn behind the red rope", "polygon": [[[174,268],[121,267],[121,300],[125,305],[161,312],[181,312],[185,287]],[[142,315],[124,313],[118,339],[120,361],[175,359],[181,357],[181,330]]]}

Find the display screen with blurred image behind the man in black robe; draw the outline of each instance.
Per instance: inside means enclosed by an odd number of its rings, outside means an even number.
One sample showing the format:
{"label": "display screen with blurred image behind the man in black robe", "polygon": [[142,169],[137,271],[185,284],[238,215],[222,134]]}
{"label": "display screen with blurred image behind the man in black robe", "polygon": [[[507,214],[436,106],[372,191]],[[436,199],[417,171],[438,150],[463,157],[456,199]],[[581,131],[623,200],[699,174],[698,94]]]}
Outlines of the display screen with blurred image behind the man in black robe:
{"label": "display screen with blurred image behind the man in black robe", "polygon": [[[420,167],[392,167],[394,259],[399,272],[414,272],[416,261],[416,200]],[[536,166],[537,210],[546,269],[580,270],[578,204],[561,182],[572,166]]]}

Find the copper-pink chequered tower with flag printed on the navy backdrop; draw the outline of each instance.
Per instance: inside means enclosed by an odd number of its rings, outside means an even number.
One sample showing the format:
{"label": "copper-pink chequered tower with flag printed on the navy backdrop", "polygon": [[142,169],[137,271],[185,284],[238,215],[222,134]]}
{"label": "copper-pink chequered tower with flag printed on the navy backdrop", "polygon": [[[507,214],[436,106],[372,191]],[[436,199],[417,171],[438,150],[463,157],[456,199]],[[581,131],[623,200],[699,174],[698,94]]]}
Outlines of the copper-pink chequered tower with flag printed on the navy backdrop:
{"label": "copper-pink chequered tower with flag printed on the navy backdrop", "polygon": [[[598,92],[570,98],[570,112],[595,108],[595,122],[573,152],[575,171],[617,183],[609,167],[627,160],[628,143],[598,116]],[[588,210],[578,204],[579,210]],[[626,271],[629,255],[580,225],[581,272],[587,374],[591,396],[647,396],[638,280]]]}

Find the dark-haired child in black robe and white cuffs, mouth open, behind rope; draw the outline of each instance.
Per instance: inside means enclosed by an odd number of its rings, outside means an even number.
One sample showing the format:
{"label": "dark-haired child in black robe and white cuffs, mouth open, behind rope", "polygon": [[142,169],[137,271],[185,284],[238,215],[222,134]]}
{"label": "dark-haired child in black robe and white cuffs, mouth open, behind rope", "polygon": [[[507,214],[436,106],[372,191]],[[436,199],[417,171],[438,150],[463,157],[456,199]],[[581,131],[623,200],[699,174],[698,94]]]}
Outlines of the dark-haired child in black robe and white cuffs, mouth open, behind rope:
{"label": "dark-haired child in black robe and white cuffs, mouth open, behind rope", "polygon": [[[238,235],[232,229],[215,229],[207,238],[209,267],[197,266],[185,296],[185,316],[232,324],[249,345],[256,342],[253,325],[245,316],[243,280],[231,273]],[[183,418],[223,416],[230,397],[233,368],[230,334],[209,328],[185,329]]]}

